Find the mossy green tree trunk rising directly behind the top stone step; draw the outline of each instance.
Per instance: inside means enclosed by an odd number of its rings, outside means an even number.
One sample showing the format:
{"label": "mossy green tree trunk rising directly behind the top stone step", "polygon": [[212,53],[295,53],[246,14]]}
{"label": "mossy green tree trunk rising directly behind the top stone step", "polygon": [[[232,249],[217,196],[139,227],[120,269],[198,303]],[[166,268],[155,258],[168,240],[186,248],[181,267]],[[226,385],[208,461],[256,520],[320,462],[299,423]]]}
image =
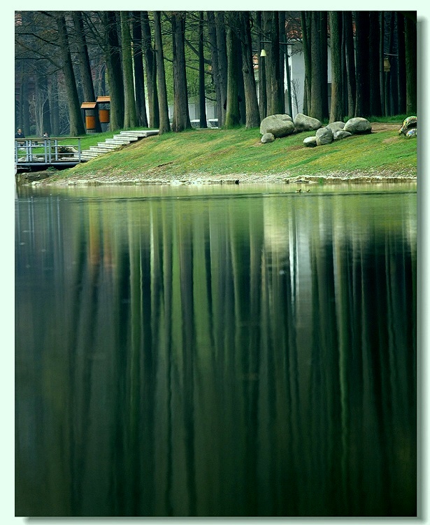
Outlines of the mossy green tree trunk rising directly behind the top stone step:
{"label": "mossy green tree trunk rising directly behind the top stone step", "polygon": [[124,71],[124,127],[137,127],[136,102],[134,101],[133,59],[129,11],[121,11],[122,70]]}

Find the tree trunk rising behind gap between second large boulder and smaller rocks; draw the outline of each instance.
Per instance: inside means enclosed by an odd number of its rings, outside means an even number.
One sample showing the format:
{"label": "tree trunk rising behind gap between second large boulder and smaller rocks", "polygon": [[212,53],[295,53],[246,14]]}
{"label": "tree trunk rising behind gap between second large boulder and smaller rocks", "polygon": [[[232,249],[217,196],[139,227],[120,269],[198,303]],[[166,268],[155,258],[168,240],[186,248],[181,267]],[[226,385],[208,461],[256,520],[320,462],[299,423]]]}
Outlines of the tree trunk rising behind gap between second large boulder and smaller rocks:
{"label": "tree trunk rising behind gap between second large boulder and smaller rocks", "polygon": [[310,77],[310,116],[322,120],[322,57],[321,57],[321,19],[318,11],[310,14],[310,62],[312,76]]}

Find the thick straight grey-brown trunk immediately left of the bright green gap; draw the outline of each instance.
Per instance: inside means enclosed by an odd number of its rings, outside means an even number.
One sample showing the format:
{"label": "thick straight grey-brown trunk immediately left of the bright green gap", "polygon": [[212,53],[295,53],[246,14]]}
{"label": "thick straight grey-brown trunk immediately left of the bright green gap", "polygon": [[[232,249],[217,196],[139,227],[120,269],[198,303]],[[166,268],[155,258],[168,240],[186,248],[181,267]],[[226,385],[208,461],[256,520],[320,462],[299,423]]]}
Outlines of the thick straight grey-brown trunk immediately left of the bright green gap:
{"label": "thick straight grey-brown trunk immediately left of the bright green gap", "polygon": [[185,71],[185,11],[171,15],[173,32],[173,123],[172,130],[191,129],[188,110],[187,73]]}

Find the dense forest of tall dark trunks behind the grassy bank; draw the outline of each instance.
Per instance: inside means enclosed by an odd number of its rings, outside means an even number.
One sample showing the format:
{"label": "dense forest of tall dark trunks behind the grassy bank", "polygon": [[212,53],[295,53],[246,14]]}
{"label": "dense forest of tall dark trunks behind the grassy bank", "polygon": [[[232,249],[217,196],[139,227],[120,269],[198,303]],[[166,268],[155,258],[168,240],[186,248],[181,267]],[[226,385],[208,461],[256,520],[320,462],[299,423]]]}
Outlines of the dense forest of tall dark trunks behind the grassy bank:
{"label": "dense forest of tall dark trunks behind the grassy bank", "polygon": [[296,53],[301,113],[417,112],[415,11],[15,11],[15,127],[83,136],[81,106],[101,96],[110,130],[182,132],[190,101],[199,127],[208,102],[219,127],[258,127],[292,114]]}

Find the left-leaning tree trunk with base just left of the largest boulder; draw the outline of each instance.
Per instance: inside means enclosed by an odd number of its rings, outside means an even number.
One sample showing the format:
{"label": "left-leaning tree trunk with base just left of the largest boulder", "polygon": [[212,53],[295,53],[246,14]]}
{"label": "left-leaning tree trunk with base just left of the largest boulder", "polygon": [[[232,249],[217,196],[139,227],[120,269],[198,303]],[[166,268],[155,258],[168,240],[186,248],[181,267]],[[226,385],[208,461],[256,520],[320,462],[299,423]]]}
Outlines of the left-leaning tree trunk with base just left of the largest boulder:
{"label": "left-leaning tree trunk with base just left of the largest boulder", "polygon": [[255,87],[254,59],[252,55],[250,13],[248,11],[239,13],[239,22],[241,29],[243,85],[245,87],[245,126],[250,128],[260,125],[257,89]]}

